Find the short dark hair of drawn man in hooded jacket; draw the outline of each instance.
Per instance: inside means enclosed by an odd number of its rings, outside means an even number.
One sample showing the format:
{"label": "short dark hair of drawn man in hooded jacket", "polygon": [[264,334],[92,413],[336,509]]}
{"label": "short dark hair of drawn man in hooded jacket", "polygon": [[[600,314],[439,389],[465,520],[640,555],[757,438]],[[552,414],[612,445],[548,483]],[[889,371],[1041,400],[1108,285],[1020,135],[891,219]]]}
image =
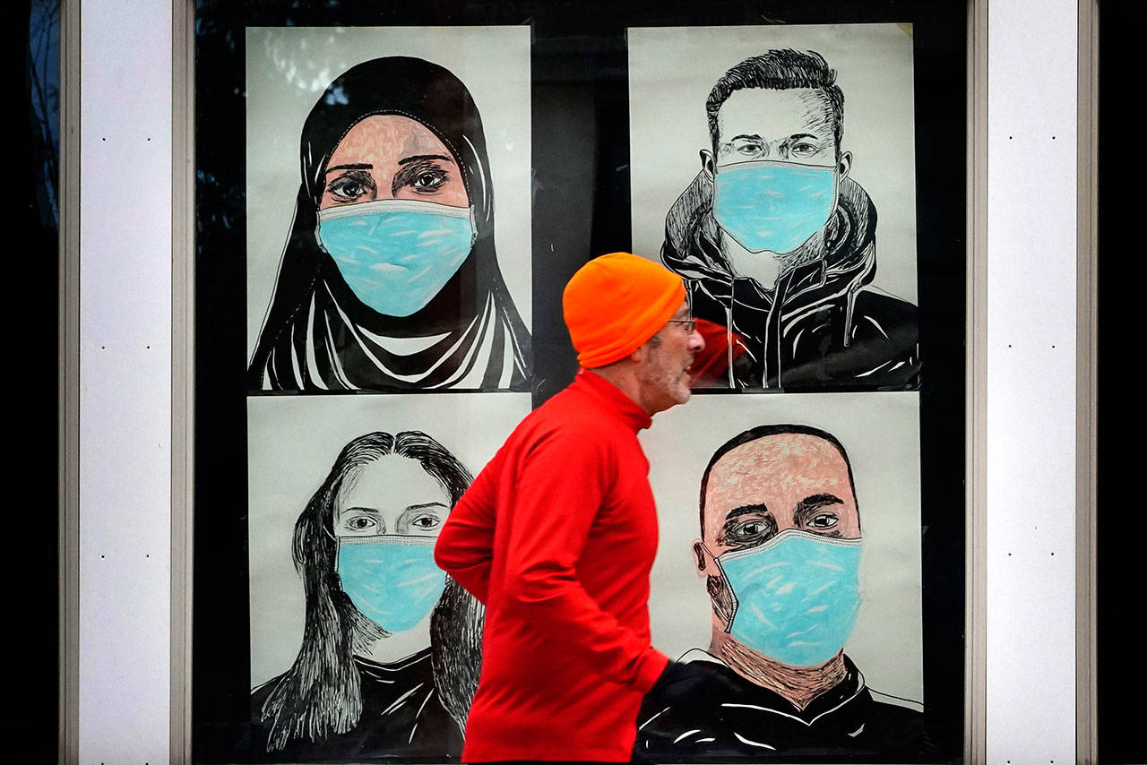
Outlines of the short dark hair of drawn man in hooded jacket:
{"label": "short dark hair of drawn man in hooded jacket", "polygon": [[759,56],[751,56],[736,64],[717,80],[709,97],[705,99],[705,114],[709,116],[709,136],[713,150],[717,148],[719,128],[717,114],[721,106],[736,91],[762,88],[768,91],[788,91],[796,87],[811,87],[824,91],[833,116],[833,136],[840,151],[844,138],[844,91],[836,84],[836,70],[816,50],[793,50],[782,48],[767,50]]}

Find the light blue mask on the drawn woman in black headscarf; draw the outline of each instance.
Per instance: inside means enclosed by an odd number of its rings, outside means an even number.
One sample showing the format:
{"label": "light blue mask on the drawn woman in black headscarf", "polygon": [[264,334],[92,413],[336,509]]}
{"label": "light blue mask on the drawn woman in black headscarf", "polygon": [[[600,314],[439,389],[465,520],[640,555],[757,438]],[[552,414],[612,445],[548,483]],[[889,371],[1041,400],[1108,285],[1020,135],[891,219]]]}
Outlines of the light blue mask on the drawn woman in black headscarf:
{"label": "light blue mask on the drawn woman in black headscarf", "polygon": [[377,200],[319,210],[319,242],[346,284],[389,317],[422,309],[450,281],[477,239],[471,208]]}

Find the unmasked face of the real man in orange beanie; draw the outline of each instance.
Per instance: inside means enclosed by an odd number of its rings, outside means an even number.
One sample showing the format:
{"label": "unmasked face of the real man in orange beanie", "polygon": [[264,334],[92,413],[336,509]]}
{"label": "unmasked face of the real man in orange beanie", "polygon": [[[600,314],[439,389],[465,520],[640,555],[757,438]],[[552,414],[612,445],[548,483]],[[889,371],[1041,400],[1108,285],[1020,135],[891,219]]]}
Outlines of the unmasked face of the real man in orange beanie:
{"label": "unmasked face of the real man in orange beanie", "polygon": [[705,342],[701,333],[689,328],[688,320],[689,305],[681,303],[665,326],[641,346],[637,375],[641,385],[640,403],[649,414],[689,400],[689,367]]}

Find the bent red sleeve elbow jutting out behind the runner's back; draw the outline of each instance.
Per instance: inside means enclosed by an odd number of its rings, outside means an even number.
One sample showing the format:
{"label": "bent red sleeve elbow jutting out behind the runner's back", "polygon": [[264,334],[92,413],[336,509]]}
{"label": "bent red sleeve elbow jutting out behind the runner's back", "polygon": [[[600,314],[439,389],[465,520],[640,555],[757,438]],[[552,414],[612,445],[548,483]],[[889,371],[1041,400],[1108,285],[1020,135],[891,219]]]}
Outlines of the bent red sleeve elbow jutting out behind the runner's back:
{"label": "bent red sleeve elbow jutting out behind the runner's back", "polygon": [[486,466],[454,506],[438,533],[434,560],[438,568],[485,604],[493,560],[497,458]]}

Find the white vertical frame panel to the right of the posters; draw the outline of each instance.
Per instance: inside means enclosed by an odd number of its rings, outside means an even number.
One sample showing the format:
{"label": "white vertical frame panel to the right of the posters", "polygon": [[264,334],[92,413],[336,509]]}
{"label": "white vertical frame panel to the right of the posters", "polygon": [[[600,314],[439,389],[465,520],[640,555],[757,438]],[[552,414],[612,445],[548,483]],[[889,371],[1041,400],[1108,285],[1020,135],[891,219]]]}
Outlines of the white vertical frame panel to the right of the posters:
{"label": "white vertical frame panel to the right of the posters", "polygon": [[986,5],[986,762],[1078,762],[1079,5]]}

